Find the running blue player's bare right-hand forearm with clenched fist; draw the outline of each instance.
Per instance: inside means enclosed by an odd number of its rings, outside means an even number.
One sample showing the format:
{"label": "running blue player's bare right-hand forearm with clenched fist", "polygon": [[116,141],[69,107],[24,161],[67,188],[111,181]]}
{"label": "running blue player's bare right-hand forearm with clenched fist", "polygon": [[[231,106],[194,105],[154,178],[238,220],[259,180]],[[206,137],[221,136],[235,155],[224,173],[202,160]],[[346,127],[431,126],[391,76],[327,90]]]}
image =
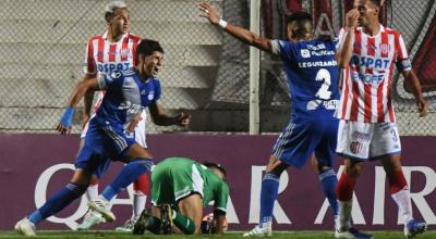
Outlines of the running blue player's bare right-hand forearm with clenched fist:
{"label": "running blue player's bare right-hand forearm with clenched fist", "polygon": [[156,102],[148,105],[148,110],[152,115],[152,120],[156,125],[169,126],[189,126],[191,124],[191,114],[181,112],[179,115],[169,116],[164,112],[164,109]]}

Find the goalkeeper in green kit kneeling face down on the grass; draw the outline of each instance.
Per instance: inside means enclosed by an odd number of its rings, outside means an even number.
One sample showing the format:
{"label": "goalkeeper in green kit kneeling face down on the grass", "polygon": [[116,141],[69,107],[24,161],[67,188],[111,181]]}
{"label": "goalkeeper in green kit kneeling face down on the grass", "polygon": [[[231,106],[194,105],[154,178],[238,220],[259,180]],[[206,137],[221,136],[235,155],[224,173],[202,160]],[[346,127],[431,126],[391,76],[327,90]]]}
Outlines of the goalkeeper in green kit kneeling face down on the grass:
{"label": "goalkeeper in green kit kneeling face down on the grass", "polygon": [[133,234],[199,234],[203,207],[214,201],[214,225],[207,232],[222,234],[229,186],[225,168],[216,163],[197,163],[169,158],[152,173],[152,213],[144,210]]}

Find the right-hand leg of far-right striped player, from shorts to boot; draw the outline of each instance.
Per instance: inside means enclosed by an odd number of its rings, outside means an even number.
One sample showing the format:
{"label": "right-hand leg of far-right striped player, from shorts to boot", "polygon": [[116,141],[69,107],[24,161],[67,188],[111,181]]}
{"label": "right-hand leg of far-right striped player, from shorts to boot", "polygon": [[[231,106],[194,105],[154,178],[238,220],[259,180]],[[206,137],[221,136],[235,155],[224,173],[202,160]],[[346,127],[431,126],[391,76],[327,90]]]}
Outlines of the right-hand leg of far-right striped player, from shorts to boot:
{"label": "right-hand leg of far-right striped player, from shorts to boot", "polygon": [[372,147],[374,158],[379,158],[389,181],[389,191],[404,222],[404,236],[414,237],[426,230],[425,223],[413,219],[410,189],[401,168],[401,144],[395,123],[378,124],[374,135],[377,143]]}

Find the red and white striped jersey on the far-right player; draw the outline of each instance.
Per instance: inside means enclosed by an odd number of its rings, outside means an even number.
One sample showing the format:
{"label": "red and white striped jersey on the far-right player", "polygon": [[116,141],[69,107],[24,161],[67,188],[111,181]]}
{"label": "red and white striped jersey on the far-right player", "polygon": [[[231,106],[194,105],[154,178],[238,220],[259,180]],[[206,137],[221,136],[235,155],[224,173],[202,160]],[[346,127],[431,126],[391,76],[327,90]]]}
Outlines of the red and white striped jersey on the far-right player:
{"label": "red and white striped jersey on the far-right player", "polygon": [[[339,45],[344,30],[339,34]],[[393,63],[399,71],[412,68],[399,32],[380,25],[376,36],[354,30],[350,65],[343,70],[342,96],[337,116],[352,122],[395,122],[390,93]]]}

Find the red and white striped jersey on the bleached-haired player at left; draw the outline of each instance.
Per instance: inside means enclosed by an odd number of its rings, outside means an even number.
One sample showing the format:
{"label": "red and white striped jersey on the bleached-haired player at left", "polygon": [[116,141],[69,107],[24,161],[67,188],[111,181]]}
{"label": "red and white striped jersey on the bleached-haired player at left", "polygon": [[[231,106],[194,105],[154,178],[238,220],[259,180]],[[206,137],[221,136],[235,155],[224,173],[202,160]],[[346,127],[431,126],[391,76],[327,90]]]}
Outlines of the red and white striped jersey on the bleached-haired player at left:
{"label": "red and white striped jersey on the bleached-haired player at left", "polygon": [[[116,70],[135,67],[136,48],[141,37],[128,33],[119,41],[110,42],[107,36],[108,32],[88,40],[83,65],[86,74],[110,74]],[[105,92],[100,91],[94,111],[100,105],[104,96]]]}

